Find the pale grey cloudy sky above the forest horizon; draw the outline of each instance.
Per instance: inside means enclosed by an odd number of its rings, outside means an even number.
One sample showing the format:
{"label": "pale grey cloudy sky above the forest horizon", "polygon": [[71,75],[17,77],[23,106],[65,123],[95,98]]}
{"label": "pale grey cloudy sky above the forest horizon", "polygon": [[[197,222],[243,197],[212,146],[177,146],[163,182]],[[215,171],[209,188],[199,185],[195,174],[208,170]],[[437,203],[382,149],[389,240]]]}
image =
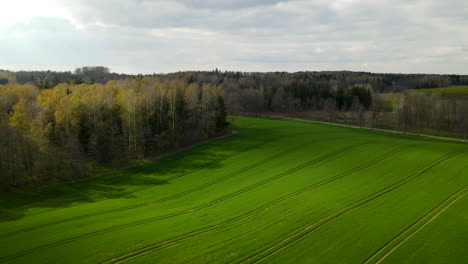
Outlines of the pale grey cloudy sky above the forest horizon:
{"label": "pale grey cloudy sky above the forest horizon", "polygon": [[1,0],[0,69],[468,74],[466,0]]}

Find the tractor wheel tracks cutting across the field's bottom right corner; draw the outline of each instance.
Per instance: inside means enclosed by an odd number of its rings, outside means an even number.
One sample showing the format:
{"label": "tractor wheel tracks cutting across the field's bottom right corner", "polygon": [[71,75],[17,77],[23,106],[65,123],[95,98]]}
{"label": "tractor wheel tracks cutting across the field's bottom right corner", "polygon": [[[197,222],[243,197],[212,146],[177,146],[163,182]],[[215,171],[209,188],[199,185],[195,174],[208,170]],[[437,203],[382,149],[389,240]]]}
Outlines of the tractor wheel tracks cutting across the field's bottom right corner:
{"label": "tractor wheel tracks cutting across the field's bottom right corner", "polygon": [[[398,234],[392,240],[387,242],[382,248],[375,252],[370,258],[368,258],[364,263],[381,263],[387,256],[389,256],[393,251],[405,243],[408,239],[414,236],[416,233],[421,231],[425,226],[430,224],[434,219],[441,215],[445,210],[452,206],[456,201],[461,199],[468,191],[467,186],[463,187],[461,190],[458,190],[452,194],[449,198],[445,199],[443,202],[434,207],[431,211],[421,217],[413,225],[406,228],[403,232]],[[384,254],[385,252],[385,254]],[[383,254],[383,255],[382,255]],[[379,258],[380,257],[380,258]]]}

